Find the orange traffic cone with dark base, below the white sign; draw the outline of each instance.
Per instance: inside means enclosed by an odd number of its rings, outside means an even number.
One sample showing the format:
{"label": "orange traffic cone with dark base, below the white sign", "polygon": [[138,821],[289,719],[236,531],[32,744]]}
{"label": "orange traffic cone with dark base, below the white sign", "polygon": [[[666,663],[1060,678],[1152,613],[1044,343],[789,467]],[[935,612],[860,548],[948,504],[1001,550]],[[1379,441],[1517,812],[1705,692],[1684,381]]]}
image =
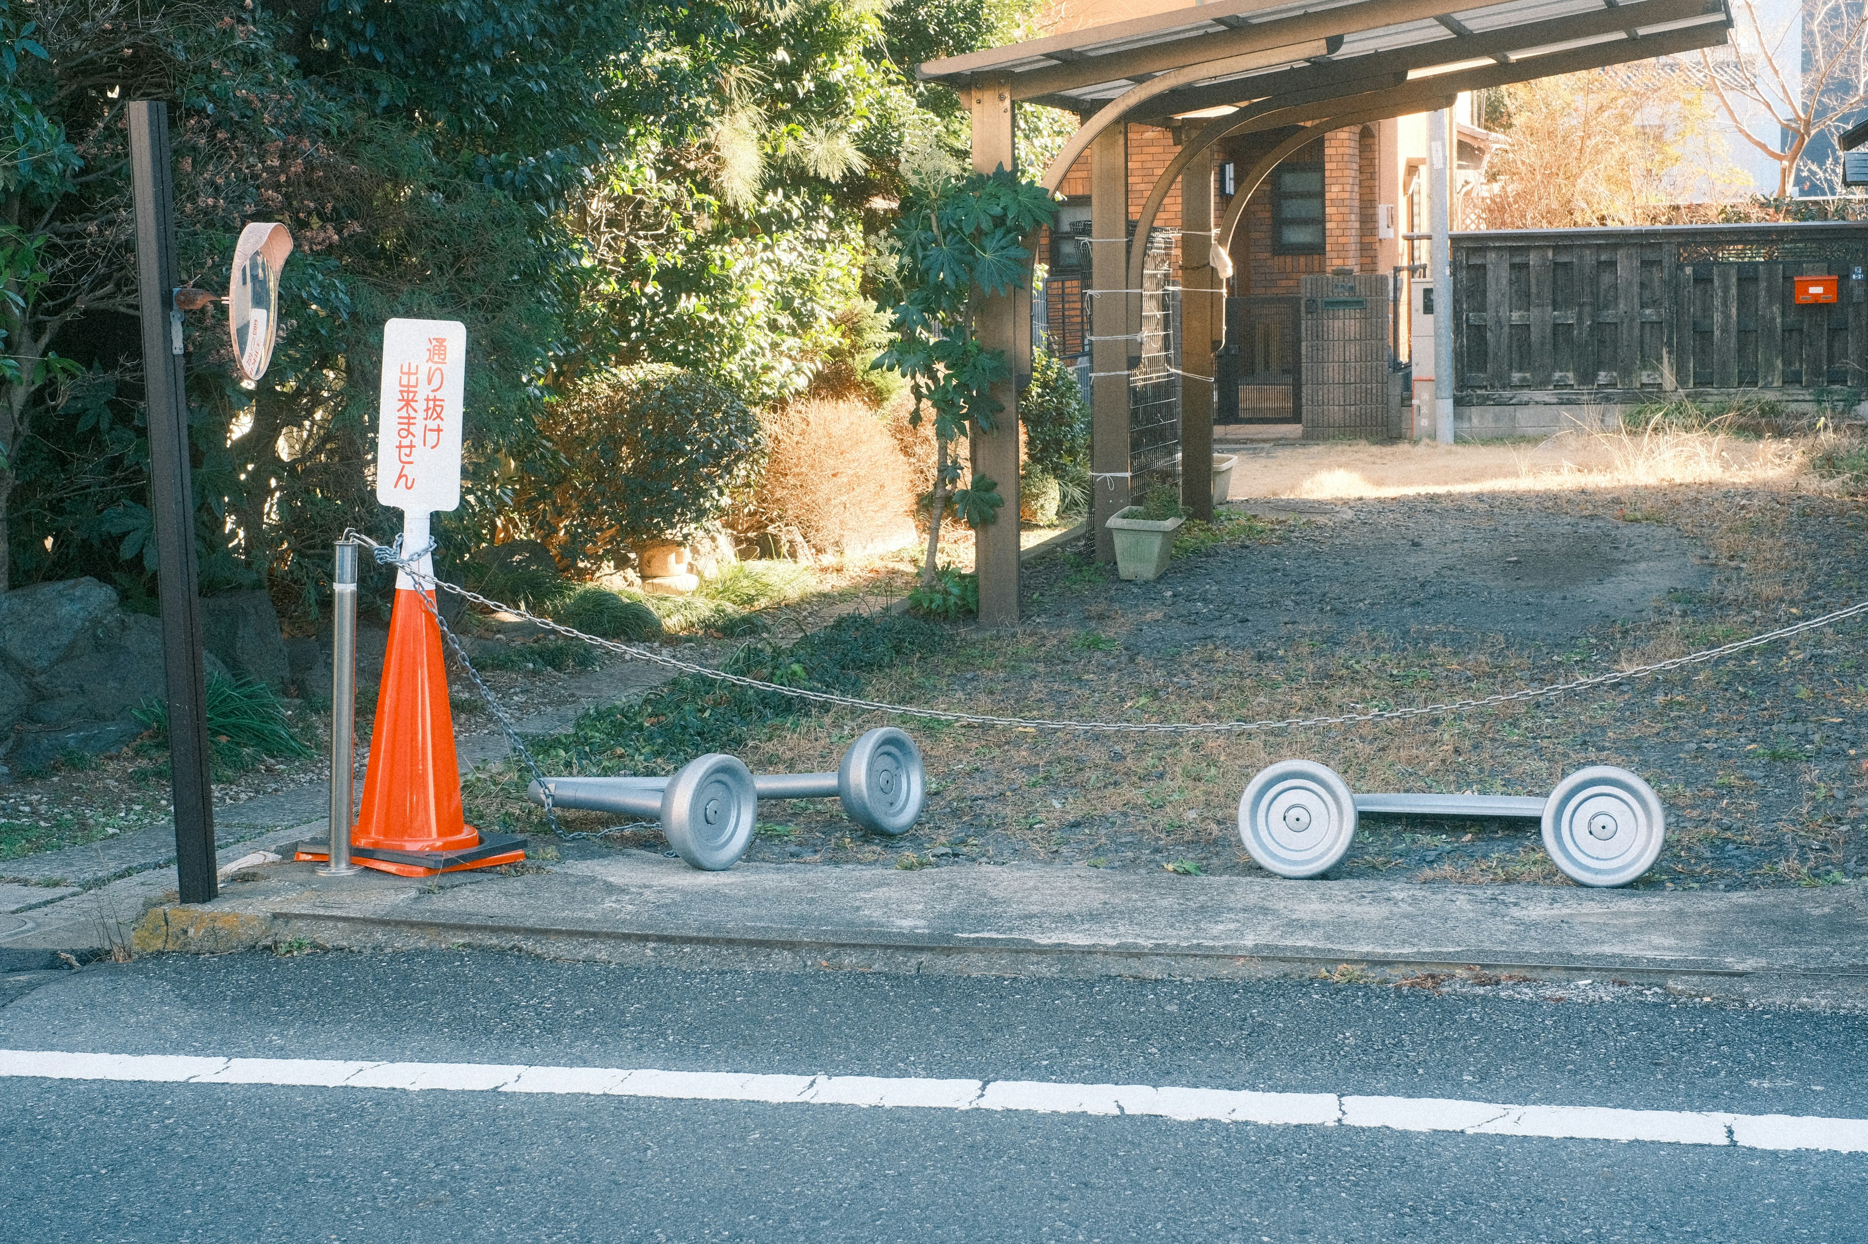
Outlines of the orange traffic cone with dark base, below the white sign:
{"label": "orange traffic cone with dark base, below the white sign", "polygon": [[396,588],[351,857],[398,876],[517,863],[525,859],[523,839],[482,835],[461,814],[441,628],[422,596],[420,588]]}

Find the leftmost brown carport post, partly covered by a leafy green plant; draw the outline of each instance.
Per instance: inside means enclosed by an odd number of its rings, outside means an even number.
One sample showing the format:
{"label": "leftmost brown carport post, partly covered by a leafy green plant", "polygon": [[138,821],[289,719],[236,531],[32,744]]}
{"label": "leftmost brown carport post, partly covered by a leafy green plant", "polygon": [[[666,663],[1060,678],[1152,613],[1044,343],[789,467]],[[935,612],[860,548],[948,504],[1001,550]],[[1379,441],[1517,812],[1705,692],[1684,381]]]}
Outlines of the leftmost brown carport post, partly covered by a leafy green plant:
{"label": "leftmost brown carport post, partly covered by a leafy green plant", "polygon": [[[1012,93],[1005,82],[981,82],[968,92],[973,114],[973,170],[990,174],[1016,168],[1012,149]],[[1011,293],[971,291],[973,334],[986,349],[1005,351],[1011,366],[1020,357],[1018,332],[1031,332],[1031,318],[1018,323],[1018,299]],[[1005,506],[998,521],[973,532],[973,570],[979,573],[979,624],[1018,626],[1018,381],[999,381],[992,396],[1001,409],[992,431],[969,437],[975,476],[990,476]]]}

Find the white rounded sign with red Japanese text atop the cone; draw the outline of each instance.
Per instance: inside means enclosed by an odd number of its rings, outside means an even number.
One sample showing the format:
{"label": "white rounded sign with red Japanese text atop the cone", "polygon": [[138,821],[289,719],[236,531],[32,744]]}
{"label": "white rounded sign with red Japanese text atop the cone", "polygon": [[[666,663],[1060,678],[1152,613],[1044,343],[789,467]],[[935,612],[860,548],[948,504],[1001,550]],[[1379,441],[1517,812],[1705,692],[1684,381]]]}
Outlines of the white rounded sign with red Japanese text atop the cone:
{"label": "white rounded sign with red Japanese text atop the cone", "polygon": [[454,319],[383,325],[383,413],[375,499],[407,514],[461,502],[461,377],[467,327]]}

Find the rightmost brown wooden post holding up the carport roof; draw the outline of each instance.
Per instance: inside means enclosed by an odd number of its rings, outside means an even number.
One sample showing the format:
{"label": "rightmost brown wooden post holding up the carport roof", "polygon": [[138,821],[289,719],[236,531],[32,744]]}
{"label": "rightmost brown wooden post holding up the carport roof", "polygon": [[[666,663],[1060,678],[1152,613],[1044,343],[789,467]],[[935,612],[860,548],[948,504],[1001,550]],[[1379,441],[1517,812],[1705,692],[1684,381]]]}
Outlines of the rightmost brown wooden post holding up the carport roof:
{"label": "rightmost brown wooden post holding up the carport roof", "polygon": [[[1212,121],[1210,127],[1224,127]],[[1192,138],[1192,134],[1188,136]],[[1212,271],[1212,146],[1181,174],[1181,504],[1212,521],[1212,351],[1225,336],[1225,291]]]}

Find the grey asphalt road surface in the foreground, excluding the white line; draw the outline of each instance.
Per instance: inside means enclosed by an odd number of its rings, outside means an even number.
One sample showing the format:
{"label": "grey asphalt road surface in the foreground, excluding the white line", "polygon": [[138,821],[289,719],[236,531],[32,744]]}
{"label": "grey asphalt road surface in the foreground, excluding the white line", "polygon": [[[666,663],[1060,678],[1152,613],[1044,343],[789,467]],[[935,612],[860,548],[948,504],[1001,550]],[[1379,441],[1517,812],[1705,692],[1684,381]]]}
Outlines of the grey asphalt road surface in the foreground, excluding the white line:
{"label": "grey asphalt road surface in the foreground, excluding the white line", "polygon": [[[1868,1117],[1868,1016],[506,954],[6,973],[0,1050]],[[0,1078],[0,1238],[1868,1240],[1868,1154],[1139,1115]]]}

